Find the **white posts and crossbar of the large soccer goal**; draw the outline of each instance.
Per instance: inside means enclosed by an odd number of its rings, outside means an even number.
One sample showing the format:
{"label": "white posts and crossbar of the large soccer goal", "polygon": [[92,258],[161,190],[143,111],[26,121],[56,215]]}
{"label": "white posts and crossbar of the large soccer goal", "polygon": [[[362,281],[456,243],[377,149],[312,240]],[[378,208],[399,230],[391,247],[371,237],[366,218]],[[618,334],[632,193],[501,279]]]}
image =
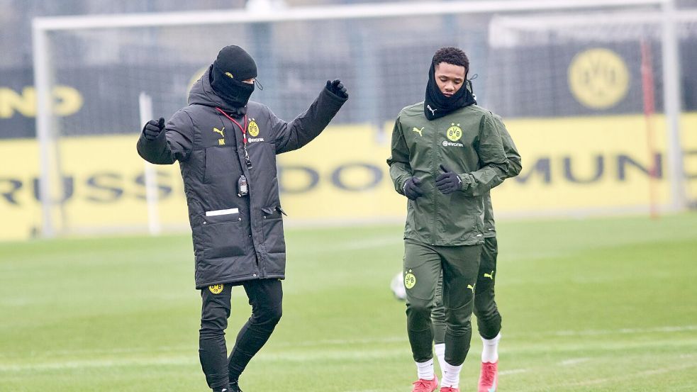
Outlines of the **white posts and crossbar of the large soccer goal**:
{"label": "white posts and crossbar of the large soccer goal", "polygon": [[[369,18],[398,18],[408,16],[445,16],[449,14],[515,14],[525,18],[527,13],[571,13],[584,10],[631,11],[642,21],[657,23],[662,28],[662,62],[664,113],[669,140],[669,174],[671,179],[670,207],[674,211],[686,206],[683,166],[679,139],[679,54],[676,21],[686,18],[676,13],[674,0],[520,0],[520,1],[447,1],[384,4],[355,4],[343,6],[290,7],[264,11],[249,9],[235,11],[192,11],[172,13],[138,13],[110,16],[64,16],[35,18],[33,30],[34,77],[37,95],[36,129],[40,146],[40,201],[42,206],[43,237],[54,237],[56,230],[55,189],[60,188],[53,171],[57,166],[55,153],[55,119],[51,113],[50,87],[53,85],[52,47],[48,35],[60,31],[104,30],[116,28],[145,28],[166,26],[213,26],[240,23],[275,23],[288,21],[357,20]],[[657,12],[659,11],[659,12]],[[554,17],[559,17],[556,15]],[[694,19],[691,19],[694,20]],[[511,19],[513,21],[513,18]],[[503,25],[502,25],[503,26]],[[147,91],[145,91],[147,93]],[[153,214],[151,219],[156,219]],[[152,230],[159,230],[150,223]]]}

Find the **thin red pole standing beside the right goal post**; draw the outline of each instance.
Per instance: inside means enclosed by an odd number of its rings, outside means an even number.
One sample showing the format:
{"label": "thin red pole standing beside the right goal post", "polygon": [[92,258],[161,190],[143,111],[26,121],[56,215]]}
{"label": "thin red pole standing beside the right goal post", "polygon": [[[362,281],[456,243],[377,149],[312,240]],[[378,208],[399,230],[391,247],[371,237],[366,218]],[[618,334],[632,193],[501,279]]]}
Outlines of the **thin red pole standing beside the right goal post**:
{"label": "thin red pole standing beside the right goal post", "polygon": [[656,145],[654,142],[654,113],[656,111],[654,99],[654,68],[651,52],[651,44],[646,40],[641,41],[641,72],[642,91],[644,94],[644,118],[646,124],[646,141],[649,152],[649,208],[651,218],[658,218],[657,179],[658,167],[656,165]]}

